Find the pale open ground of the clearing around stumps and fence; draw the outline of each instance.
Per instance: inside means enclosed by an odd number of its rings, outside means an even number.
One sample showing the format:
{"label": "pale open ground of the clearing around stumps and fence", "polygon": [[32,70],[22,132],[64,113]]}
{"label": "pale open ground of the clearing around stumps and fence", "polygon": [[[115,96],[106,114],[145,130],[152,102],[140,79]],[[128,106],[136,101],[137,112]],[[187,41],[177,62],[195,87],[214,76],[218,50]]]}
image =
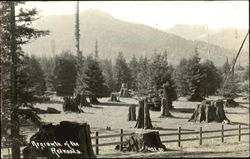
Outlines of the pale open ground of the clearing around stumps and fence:
{"label": "pale open ground of the clearing around stumps and fence", "polygon": [[[210,97],[210,99],[216,99],[218,97]],[[160,112],[150,111],[150,116],[154,130],[142,130],[135,129],[135,121],[127,121],[128,105],[138,104],[138,101],[132,98],[121,98],[121,102],[108,102],[107,98],[102,98],[99,101],[101,104],[94,105],[92,108],[84,108],[84,113],[64,113],[62,111],[63,100],[60,97],[54,96],[51,98],[51,102],[36,104],[36,107],[40,109],[47,109],[47,107],[56,108],[61,110],[61,114],[41,114],[43,122],[59,123],[60,121],[77,121],[87,122],[91,127],[91,135],[94,136],[95,131],[99,132],[99,136],[104,134],[117,134],[120,129],[124,132],[142,132],[142,131],[159,131],[159,133],[175,133],[178,127],[182,128],[182,131],[198,131],[200,127],[204,131],[206,130],[220,130],[222,123],[194,123],[188,122],[198,102],[187,102],[184,99],[179,99],[173,102],[174,110],[171,111],[173,118],[159,118]],[[244,101],[242,98],[238,98],[236,101],[240,102],[240,107],[237,108],[225,108],[226,116],[232,122],[227,124],[224,129],[237,128],[238,124],[242,127],[249,126],[249,102]],[[138,111],[138,108],[137,110]],[[111,127],[111,130],[106,130],[107,127]],[[22,133],[27,135],[28,138],[33,135],[37,129],[31,127],[25,127],[22,129]],[[242,131],[242,133],[248,132],[249,129]],[[226,134],[234,133],[237,131],[225,132]],[[204,134],[220,135],[221,133]],[[197,134],[198,135],[198,134]],[[185,135],[183,138],[193,138],[197,135]],[[177,136],[161,137],[161,140],[173,140],[177,139]],[[108,143],[119,141],[119,137],[100,139],[99,143]],[[93,140],[93,144],[94,140]],[[238,137],[225,138],[225,142],[221,143],[221,139],[208,139],[203,141],[203,145],[199,146],[199,141],[186,141],[182,143],[182,150],[177,146],[177,143],[164,143],[167,148],[172,151],[156,152],[156,153],[134,153],[134,152],[119,152],[114,149],[113,146],[100,147],[101,158],[112,157],[143,157],[143,158],[166,158],[166,157],[247,157],[249,156],[249,135],[243,136],[242,141],[238,142]],[[181,153],[182,151],[182,153]]]}

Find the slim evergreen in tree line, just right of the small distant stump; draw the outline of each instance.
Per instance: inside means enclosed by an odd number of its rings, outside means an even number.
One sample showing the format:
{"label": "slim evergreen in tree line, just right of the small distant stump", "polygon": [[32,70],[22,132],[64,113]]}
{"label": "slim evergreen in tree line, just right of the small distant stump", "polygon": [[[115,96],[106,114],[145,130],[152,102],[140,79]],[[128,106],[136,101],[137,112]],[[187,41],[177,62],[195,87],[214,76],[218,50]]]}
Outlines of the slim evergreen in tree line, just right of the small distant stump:
{"label": "slim evergreen in tree line, just right of the small distant stump", "polygon": [[129,62],[129,68],[131,70],[131,88],[135,90],[137,89],[136,77],[138,74],[138,62],[137,62],[135,55],[133,55],[131,61]]}

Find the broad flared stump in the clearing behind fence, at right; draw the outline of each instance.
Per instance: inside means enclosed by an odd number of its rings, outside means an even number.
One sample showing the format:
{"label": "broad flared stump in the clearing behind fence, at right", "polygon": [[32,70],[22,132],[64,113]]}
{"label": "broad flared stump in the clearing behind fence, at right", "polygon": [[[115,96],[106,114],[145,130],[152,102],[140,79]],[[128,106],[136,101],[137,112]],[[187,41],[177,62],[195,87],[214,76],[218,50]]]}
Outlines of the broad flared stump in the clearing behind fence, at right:
{"label": "broad flared stump in the clearing behind fence, at right", "polygon": [[198,122],[225,122],[230,123],[225,115],[223,101],[209,101],[204,100],[201,104],[197,105],[191,118],[188,121],[198,121]]}

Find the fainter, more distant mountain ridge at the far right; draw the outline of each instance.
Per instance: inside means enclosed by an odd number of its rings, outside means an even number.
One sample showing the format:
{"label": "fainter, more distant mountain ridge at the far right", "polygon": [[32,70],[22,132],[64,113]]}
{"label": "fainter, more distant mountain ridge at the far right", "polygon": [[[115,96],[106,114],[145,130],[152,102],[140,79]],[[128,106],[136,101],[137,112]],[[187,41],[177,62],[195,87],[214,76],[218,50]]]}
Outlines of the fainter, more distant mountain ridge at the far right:
{"label": "fainter, more distant mountain ridge at the far right", "polygon": [[[233,27],[208,29],[206,25],[177,24],[165,31],[187,40],[200,40],[223,48],[239,50],[248,29]],[[243,50],[249,52],[249,38]]]}

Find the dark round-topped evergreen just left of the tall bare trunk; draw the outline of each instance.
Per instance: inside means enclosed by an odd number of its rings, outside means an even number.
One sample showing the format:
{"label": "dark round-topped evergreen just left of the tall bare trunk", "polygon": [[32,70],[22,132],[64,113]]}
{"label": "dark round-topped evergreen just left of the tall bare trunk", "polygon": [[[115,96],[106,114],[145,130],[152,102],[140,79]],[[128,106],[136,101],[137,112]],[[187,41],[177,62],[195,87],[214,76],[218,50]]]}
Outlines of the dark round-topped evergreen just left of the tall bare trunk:
{"label": "dark round-topped evergreen just left of the tall bare trunk", "polygon": [[58,96],[73,96],[77,73],[76,63],[76,58],[70,52],[63,52],[56,56],[54,72]]}

